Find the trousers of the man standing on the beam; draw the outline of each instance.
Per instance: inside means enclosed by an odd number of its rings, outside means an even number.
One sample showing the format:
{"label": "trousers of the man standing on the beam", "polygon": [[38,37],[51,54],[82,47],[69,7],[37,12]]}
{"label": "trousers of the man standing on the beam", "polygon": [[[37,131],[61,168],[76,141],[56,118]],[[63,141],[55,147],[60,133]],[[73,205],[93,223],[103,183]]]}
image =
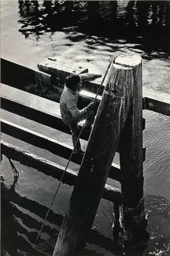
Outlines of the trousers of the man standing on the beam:
{"label": "trousers of the man standing on the beam", "polygon": [[[80,152],[81,151],[81,144],[80,144],[80,140],[77,141],[78,137],[79,137],[79,125],[78,123],[80,121],[82,121],[83,119],[86,119],[85,120],[85,125],[87,126],[91,126],[93,125],[94,123],[94,120],[95,120],[95,115],[96,115],[96,112],[93,111],[93,110],[90,110],[89,112],[87,112],[82,119],[79,119],[79,120],[75,120],[73,119],[71,121],[71,124],[69,125],[70,129],[71,129],[71,135],[72,135],[72,141],[73,141],[73,146],[75,147],[74,151],[75,152]],[[77,144],[76,144],[76,141],[77,141]],[[75,146],[76,144],[76,146]]]}

